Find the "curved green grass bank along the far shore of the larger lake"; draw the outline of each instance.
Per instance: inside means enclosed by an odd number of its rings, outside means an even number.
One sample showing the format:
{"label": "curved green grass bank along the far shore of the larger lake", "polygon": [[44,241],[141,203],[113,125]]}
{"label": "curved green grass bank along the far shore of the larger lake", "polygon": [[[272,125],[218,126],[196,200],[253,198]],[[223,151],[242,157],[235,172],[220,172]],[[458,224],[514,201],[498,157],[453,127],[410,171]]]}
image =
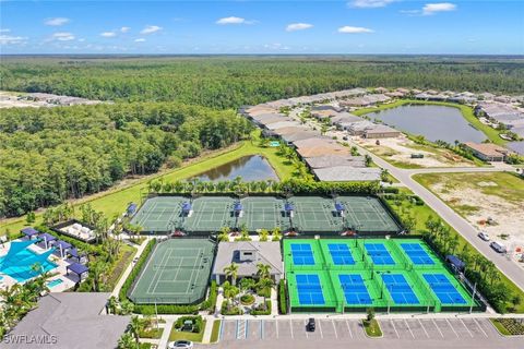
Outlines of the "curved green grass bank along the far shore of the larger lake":
{"label": "curved green grass bank along the far shore of the larger lake", "polygon": [[486,136],[495,144],[499,145],[504,145],[508,143],[508,141],[502,140],[499,136],[499,131],[495,130],[493,128],[490,128],[484,123],[481,123],[477,117],[473,113],[473,109],[468,106],[465,105],[460,105],[456,103],[449,103],[449,101],[429,101],[429,100],[415,100],[415,99],[401,99],[401,100],[395,100],[394,103],[390,104],[384,104],[380,105],[377,107],[371,107],[371,108],[362,108],[353,111],[354,115],[356,116],[364,116],[366,113],[374,112],[374,111],[380,111],[384,109],[391,109],[391,108],[396,108],[400,106],[404,105],[434,105],[434,106],[445,106],[445,107],[453,107],[453,108],[458,108],[461,109],[462,116],[464,119],[467,120],[472,125],[474,125],[476,129],[480,130],[486,134]]}

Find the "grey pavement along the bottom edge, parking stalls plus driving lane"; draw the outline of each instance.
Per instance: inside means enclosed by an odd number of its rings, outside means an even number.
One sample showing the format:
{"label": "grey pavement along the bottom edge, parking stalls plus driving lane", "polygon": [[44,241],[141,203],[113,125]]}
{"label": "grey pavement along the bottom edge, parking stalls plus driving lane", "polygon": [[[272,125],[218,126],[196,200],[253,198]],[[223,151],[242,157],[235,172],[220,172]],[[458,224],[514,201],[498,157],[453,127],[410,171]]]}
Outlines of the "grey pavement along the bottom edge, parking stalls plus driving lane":
{"label": "grey pavement along the bottom edge, parking stalls plus driving lane", "polygon": [[[487,318],[379,320],[383,337],[366,336],[360,320],[225,320],[214,348],[519,348],[524,337],[503,337]],[[206,346],[195,346],[204,348]]]}

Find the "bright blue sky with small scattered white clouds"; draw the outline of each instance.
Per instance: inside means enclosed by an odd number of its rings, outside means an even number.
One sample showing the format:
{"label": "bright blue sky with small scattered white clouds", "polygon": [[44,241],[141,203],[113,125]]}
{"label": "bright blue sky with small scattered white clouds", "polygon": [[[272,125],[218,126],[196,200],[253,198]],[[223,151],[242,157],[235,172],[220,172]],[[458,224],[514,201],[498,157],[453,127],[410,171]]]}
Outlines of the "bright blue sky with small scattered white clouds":
{"label": "bright blue sky with small scattered white clouds", "polygon": [[524,0],[0,0],[0,55],[524,55]]}

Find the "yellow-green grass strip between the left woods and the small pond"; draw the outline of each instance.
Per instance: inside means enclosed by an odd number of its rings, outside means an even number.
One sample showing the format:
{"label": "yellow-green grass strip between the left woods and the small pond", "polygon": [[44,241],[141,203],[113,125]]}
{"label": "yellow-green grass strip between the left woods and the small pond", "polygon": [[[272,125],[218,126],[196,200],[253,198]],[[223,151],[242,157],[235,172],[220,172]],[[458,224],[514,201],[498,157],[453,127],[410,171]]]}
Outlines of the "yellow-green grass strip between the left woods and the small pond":
{"label": "yellow-green grass strip between the left woods and the small pond", "polygon": [[[156,177],[147,177],[146,179],[130,184],[129,186],[86,196],[82,200],[75,201],[74,204],[78,206],[82,203],[88,202],[96,210],[103,212],[107,217],[112,217],[116,214],[121,214],[126,209],[128,203],[140,202],[141,191],[145,193],[147,181],[153,178],[163,178],[165,181],[183,180],[249,155],[264,156],[281,180],[289,179],[295,171],[295,166],[278,154],[278,148],[264,148],[258,146],[257,141],[243,141],[227,152],[218,151],[210,153],[196,159],[192,159],[180,168],[164,172]],[[37,222],[40,222],[41,212],[36,214],[36,219]],[[25,226],[26,222],[24,217],[4,219],[0,221],[0,236],[4,234],[7,229],[11,232],[15,232]]]}

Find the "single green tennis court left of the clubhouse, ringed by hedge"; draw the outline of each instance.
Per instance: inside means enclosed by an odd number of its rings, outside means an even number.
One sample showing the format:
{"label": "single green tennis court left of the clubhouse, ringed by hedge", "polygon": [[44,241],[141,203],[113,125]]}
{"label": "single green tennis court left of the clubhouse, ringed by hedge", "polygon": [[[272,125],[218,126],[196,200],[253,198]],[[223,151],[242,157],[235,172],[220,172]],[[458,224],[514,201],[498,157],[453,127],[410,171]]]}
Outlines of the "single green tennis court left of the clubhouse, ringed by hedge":
{"label": "single green tennis court left of the clubhouse, ringed by hedge", "polygon": [[152,251],[129,298],[138,304],[194,304],[205,298],[214,244],[206,239],[168,239]]}

